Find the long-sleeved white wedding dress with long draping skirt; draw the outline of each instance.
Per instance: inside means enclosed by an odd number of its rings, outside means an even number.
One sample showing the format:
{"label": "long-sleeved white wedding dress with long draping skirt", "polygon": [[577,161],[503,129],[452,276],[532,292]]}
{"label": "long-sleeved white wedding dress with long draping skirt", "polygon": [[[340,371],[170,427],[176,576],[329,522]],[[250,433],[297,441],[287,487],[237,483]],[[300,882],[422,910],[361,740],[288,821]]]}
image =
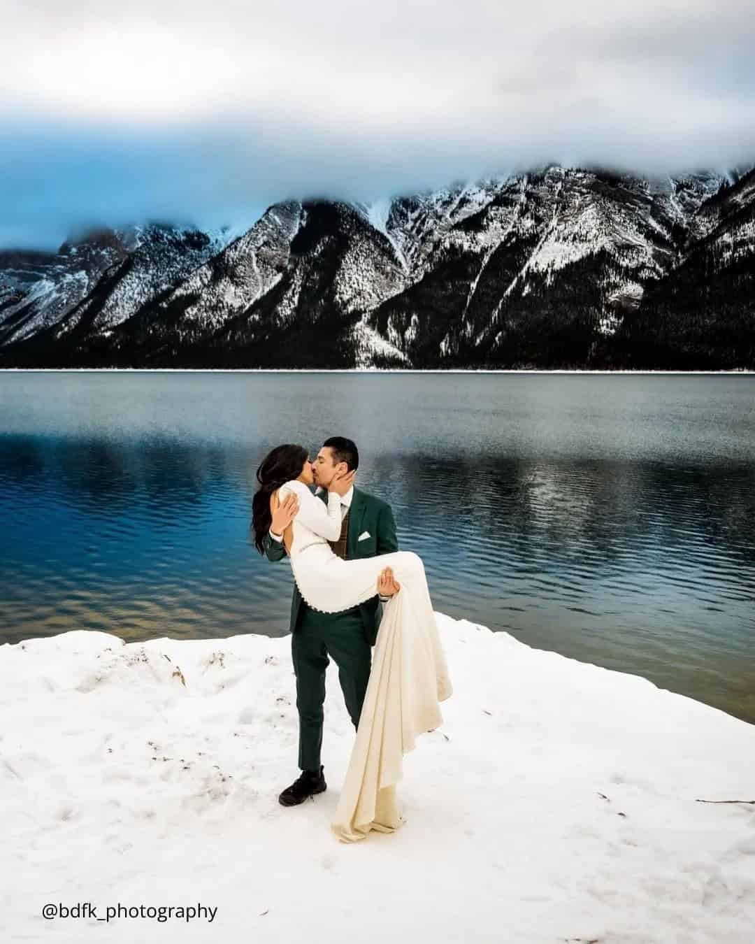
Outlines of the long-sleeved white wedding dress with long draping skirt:
{"label": "long-sleeved white wedding dress with long draping skirt", "polygon": [[411,551],[344,561],[328,541],[341,534],[341,499],[328,493],[327,506],[301,481],[278,491],[299,498],[290,549],[294,580],[314,610],[338,613],[377,594],[377,578],[390,566],[401,585],[384,604],[370,680],[361,708],[333,832],[343,842],[363,839],[370,830],[392,833],[404,820],[395,801],[402,757],[417,734],[443,723],[439,701],[453,688],[448,678],[422,560]]}

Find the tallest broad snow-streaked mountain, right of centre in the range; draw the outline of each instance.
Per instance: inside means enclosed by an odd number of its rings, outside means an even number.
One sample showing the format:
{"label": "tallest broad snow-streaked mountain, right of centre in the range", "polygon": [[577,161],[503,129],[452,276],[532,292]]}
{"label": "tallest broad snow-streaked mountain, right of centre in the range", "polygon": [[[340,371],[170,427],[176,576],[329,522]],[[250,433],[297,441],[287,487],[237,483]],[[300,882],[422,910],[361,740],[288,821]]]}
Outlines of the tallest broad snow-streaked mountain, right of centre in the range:
{"label": "tallest broad snow-streaked mountain, right of centre in the range", "polygon": [[[609,362],[620,345],[606,339],[720,218],[713,197],[752,206],[747,179],[659,182],[551,166],[497,180],[477,213],[435,241],[423,278],[370,324],[424,366]],[[702,208],[711,219],[698,219]]]}

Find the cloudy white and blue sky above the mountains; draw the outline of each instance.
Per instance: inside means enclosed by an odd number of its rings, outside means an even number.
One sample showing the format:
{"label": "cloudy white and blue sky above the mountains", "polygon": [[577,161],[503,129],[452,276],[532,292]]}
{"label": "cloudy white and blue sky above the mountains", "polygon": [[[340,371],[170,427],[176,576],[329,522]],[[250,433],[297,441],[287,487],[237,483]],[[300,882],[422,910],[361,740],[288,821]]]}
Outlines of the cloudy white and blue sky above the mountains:
{"label": "cloudy white and blue sky above the mountains", "polygon": [[0,247],[542,161],[755,161],[751,0],[0,0]]}

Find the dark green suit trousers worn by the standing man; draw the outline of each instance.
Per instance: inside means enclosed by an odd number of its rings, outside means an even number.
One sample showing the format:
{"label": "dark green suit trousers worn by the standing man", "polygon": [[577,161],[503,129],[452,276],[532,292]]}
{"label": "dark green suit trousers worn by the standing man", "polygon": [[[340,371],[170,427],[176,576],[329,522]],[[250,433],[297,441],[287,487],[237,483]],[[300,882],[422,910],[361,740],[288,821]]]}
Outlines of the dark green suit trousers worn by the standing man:
{"label": "dark green suit trousers worn by the standing man", "polygon": [[320,613],[302,600],[291,636],[291,654],[299,713],[299,767],[319,773],[328,655],[338,666],[346,710],[355,729],[360,722],[372,667],[372,647],[367,641],[359,609]]}

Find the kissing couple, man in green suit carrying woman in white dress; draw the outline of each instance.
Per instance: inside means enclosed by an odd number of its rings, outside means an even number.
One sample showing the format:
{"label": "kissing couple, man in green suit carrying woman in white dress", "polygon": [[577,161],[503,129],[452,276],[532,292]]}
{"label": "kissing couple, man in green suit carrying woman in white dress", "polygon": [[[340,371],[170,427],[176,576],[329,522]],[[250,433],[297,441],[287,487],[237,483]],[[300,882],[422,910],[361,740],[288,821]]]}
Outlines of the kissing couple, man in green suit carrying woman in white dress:
{"label": "kissing couple, man in green suit carrying woman in white dress", "polygon": [[292,806],[327,788],[332,658],[357,732],[331,823],[344,842],[403,824],[395,800],[402,756],[417,734],[440,726],[439,702],[452,693],[423,562],[398,550],[391,507],[354,485],[358,467],[356,444],[342,436],[327,439],[313,462],[302,446],[278,446],[260,463],[252,502],[256,548],[270,561],[288,558],[294,573],[301,773],[278,800]]}

